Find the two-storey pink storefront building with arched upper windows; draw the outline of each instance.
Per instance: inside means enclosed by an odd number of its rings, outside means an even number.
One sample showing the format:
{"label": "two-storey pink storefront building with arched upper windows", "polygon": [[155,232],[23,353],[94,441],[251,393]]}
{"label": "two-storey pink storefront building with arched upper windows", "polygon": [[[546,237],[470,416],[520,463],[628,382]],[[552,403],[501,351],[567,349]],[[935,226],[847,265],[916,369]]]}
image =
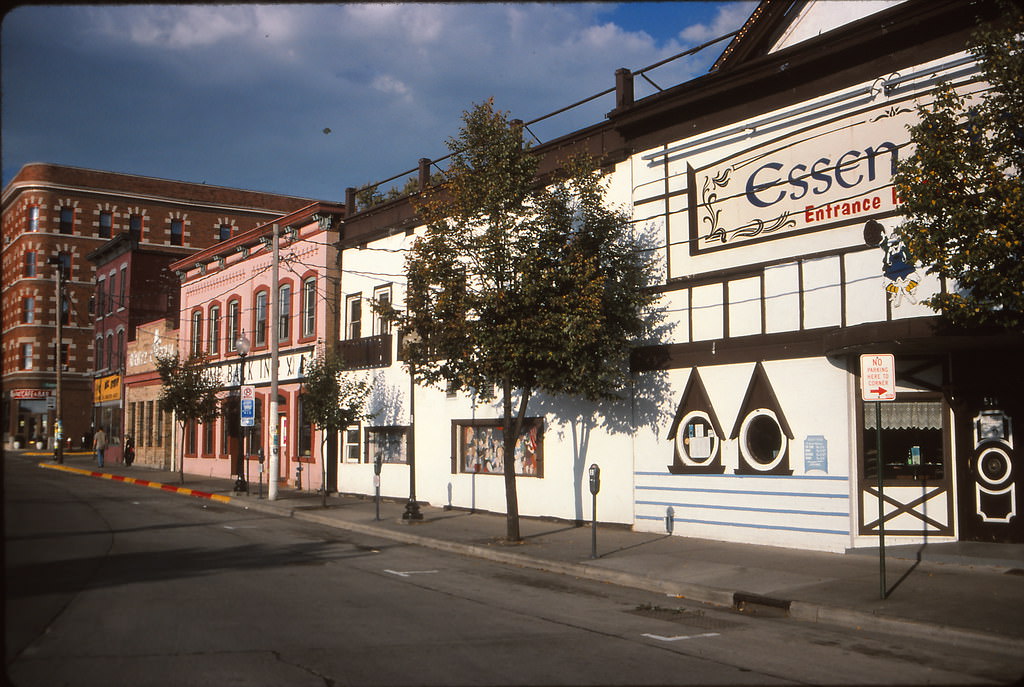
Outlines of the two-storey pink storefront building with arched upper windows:
{"label": "two-storey pink storefront building with arched upper windows", "polygon": [[[279,485],[324,486],[318,431],[304,417],[301,391],[317,348],[337,339],[332,304],[337,303],[335,243],[343,216],[342,205],[314,203],[171,265],[181,280],[181,357],[204,355],[222,387],[220,417],[189,423],[178,439],[184,442],[184,472],[228,477],[241,471],[251,488],[261,479],[266,489],[270,429],[276,423],[281,460],[272,478]],[[271,321],[274,300],[279,316]],[[248,351],[244,344],[239,347],[240,339],[247,340]],[[274,345],[278,417],[270,418]],[[247,427],[239,412],[243,383],[255,390],[255,417]],[[329,490],[334,489],[331,473]]]}

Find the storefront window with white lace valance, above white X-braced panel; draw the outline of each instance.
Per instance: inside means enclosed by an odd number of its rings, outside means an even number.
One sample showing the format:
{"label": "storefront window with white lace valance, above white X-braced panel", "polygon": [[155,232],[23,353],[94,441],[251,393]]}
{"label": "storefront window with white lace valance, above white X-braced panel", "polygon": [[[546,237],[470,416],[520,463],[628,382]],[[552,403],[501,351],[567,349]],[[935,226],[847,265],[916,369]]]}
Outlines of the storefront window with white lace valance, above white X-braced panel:
{"label": "storefront window with white lace valance, above white X-braced panel", "polygon": [[[882,416],[882,457],[886,479],[942,479],[941,400],[878,403]],[[864,477],[878,479],[876,403],[864,403]]]}

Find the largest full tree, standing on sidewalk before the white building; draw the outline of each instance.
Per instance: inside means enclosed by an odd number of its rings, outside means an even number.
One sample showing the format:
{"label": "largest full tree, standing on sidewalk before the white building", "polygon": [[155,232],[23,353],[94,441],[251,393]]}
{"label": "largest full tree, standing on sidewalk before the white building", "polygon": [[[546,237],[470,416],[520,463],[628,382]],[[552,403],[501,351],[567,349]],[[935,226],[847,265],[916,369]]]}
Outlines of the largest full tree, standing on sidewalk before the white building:
{"label": "largest full tree, standing on sidewalk before the white building", "polygon": [[[407,259],[403,354],[428,384],[500,390],[507,539],[517,542],[515,445],[538,391],[609,398],[628,379],[652,297],[629,218],[589,161],[537,187],[538,160],[488,100],[463,114],[447,180],[421,195]],[[513,411],[513,404],[516,405]]]}

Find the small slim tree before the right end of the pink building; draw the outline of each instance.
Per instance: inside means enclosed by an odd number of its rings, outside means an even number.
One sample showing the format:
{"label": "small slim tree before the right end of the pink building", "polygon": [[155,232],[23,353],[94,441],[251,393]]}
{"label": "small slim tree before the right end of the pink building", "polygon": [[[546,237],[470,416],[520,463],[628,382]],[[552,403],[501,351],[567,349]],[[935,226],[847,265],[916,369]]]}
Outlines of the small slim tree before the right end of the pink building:
{"label": "small slim tree before the right end of the pink building", "polygon": [[327,437],[329,432],[339,432],[359,420],[368,419],[362,412],[370,384],[366,380],[348,380],[342,377],[344,358],[337,351],[319,352],[306,367],[302,383],[302,412],[310,423],[321,429],[321,457],[323,463],[322,505],[327,506]]}

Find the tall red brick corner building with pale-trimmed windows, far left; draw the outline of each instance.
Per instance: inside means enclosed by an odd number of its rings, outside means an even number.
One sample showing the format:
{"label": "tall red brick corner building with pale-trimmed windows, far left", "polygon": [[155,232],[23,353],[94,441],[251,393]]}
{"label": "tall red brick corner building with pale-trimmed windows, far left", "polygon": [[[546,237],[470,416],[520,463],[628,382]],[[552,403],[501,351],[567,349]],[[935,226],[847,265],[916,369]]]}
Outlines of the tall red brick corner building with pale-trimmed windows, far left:
{"label": "tall red brick corner building with pale-trimmed windows, far left", "polygon": [[61,405],[65,436],[77,447],[91,431],[95,372],[89,303],[97,280],[86,256],[122,232],[142,249],[206,248],[310,202],[45,163],[23,167],[2,197],[4,445],[39,439],[52,446],[58,307],[52,261],[63,260],[68,269]]}

